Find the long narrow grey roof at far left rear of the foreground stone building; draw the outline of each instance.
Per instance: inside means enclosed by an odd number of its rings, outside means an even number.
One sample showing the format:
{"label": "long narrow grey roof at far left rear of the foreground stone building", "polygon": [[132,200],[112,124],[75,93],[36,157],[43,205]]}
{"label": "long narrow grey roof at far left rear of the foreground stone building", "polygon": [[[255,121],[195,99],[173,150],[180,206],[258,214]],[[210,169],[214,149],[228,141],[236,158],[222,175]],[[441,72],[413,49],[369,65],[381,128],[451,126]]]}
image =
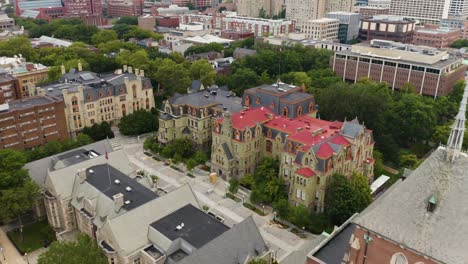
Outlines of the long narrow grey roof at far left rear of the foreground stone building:
{"label": "long narrow grey roof at far left rear of the foreground stone building", "polygon": [[[106,139],[106,140],[101,140],[101,141],[98,141],[98,142],[95,142],[95,143],[92,143],[92,144],[89,144],[89,145],[86,145],[86,146],[82,146],[82,147],[79,147],[79,148],[76,148],[76,149],[72,149],[72,150],[69,150],[69,151],[66,151],[66,152],[62,152],[62,153],[59,153],[57,155],[53,155],[53,156],[50,156],[50,157],[47,157],[47,158],[43,158],[43,159],[40,159],[40,160],[36,160],[36,161],[26,163],[24,168],[29,171],[29,175],[31,176],[31,178],[37,184],[39,184],[39,186],[41,188],[44,188],[44,184],[45,184],[45,180],[46,180],[46,176],[47,176],[47,171],[54,171],[54,170],[62,168],[63,165],[66,165],[66,164],[62,164],[63,163],[62,161],[64,160],[64,157],[65,158],[68,157],[69,156],[68,154],[72,154],[73,157],[74,157],[74,156],[76,156],[76,153],[79,150],[85,150],[85,151],[94,150],[99,154],[104,154],[106,152],[106,150],[107,150],[107,152],[112,152],[113,151],[111,144]],[[80,162],[85,161],[85,160],[87,160],[87,159],[85,159],[85,158],[80,159]],[[68,164],[68,165],[70,165],[70,164]]]}

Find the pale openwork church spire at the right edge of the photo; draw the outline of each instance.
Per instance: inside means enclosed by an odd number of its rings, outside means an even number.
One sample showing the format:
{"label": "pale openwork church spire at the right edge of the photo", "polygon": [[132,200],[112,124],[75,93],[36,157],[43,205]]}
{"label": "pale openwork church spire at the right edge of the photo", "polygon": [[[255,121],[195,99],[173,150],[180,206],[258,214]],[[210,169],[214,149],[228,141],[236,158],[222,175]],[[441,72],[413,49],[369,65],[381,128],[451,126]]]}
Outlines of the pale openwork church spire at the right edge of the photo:
{"label": "pale openwork church spire at the right edge of the photo", "polygon": [[460,108],[458,114],[455,117],[455,122],[452,125],[452,132],[447,142],[447,161],[453,162],[460,155],[460,151],[463,144],[463,135],[465,134],[465,112],[466,103],[468,100],[468,83],[465,85],[465,91],[463,92],[463,99],[460,102]]}

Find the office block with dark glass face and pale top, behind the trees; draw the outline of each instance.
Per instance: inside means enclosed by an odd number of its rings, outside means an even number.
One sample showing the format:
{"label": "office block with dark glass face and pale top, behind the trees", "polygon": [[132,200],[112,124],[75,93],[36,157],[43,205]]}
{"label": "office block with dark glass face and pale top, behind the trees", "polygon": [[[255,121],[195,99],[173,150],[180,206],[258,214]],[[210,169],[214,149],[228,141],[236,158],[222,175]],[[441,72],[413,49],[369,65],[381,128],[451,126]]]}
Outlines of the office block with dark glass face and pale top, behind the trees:
{"label": "office block with dark glass face and pale top, behind the trees", "polygon": [[325,17],[338,19],[340,21],[338,26],[338,39],[341,43],[347,43],[358,38],[360,21],[358,13],[329,12],[325,14]]}

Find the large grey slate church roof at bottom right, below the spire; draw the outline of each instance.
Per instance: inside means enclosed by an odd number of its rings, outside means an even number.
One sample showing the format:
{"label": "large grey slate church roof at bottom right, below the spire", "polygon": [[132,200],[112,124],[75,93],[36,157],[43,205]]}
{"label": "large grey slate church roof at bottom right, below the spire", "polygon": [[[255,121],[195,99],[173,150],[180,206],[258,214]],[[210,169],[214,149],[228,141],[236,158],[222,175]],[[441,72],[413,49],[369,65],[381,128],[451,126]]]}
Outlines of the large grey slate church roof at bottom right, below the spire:
{"label": "large grey slate church roof at bottom right, below the spire", "polygon": [[[437,198],[433,212],[428,200]],[[354,222],[443,263],[468,260],[468,155],[445,161],[435,150],[405,181],[387,190]]]}

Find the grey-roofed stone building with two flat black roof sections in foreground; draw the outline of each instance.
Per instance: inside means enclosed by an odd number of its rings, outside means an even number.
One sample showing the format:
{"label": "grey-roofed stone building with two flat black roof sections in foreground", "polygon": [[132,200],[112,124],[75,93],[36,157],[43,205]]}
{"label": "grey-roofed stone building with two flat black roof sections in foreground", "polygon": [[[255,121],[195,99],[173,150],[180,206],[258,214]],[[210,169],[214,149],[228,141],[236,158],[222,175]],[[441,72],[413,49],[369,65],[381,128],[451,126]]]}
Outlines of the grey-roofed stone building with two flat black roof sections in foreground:
{"label": "grey-roofed stone building with two flat black roof sections in foreground", "polygon": [[85,233],[115,264],[272,263],[253,218],[225,225],[201,210],[188,184],[157,193],[149,176],[135,175],[123,150],[71,154],[81,162],[65,155],[71,163],[47,172],[44,184],[47,218],[59,240]]}

